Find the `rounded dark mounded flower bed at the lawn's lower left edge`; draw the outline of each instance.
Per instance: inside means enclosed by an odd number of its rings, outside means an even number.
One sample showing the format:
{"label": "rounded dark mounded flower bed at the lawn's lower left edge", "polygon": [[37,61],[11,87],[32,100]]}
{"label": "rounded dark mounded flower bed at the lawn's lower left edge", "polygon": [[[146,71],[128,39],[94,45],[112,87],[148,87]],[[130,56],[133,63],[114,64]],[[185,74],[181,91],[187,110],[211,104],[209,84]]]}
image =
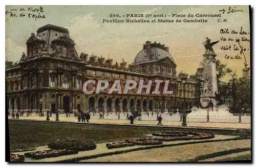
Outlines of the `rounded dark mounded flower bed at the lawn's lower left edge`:
{"label": "rounded dark mounded flower bed at the lawn's lower left edge", "polygon": [[63,138],[49,143],[48,147],[51,149],[86,151],[94,150],[97,146],[92,141],[84,138]]}

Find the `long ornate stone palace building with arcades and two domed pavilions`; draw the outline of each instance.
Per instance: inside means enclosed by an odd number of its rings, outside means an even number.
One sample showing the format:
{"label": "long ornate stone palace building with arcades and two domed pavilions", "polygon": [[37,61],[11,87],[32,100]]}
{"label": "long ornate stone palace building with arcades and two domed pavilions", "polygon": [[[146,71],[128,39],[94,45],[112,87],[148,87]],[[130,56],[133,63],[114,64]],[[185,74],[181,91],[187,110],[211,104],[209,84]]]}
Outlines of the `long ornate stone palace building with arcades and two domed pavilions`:
{"label": "long ornate stone palace building with arcades and two domed pavilions", "polygon": [[[147,57],[143,54],[147,48]],[[75,50],[75,42],[69,31],[55,25],[45,25],[31,34],[27,40],[27,55],[22,54],[19,63],[6,65],[8,110],[38,113],[46,109],[52,112],[146,112],[178,108],[183,100],[183,86],[176,75],[176,64],[168,53],[168,48],[147,41],[138,53],[133,64],[123,60],[120,64],[96,55],[89,56]],[[143,60],[143,59],[146,60]],[[84,94],[82,84],[89,79],[108,80],[110,87],[116,79],[133,79],[147,82],[149,79],[169,80],[168,91],[173,94],[141,94],[129,91],[128,94],[108,94],[110,88],[100,94]],[[186,101],[194,99],[195,81],[188,80],[185,87]],[[155,85],[152,85],[154,90]],[[89,90],[95,91],[95,86]],[[163,85],[160,85],[162,92]],[[152,92],[151,90],[151,92]]]}

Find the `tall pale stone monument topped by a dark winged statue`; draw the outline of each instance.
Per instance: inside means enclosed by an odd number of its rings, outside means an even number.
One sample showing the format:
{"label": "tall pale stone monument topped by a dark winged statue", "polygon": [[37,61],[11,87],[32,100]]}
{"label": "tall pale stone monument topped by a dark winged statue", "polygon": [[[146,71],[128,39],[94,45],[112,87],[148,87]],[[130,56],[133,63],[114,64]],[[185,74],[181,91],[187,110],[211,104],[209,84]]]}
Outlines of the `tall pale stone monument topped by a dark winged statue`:
{"label": "tall pale stone monument topped by a dark winged statue", "polygon": [[[199,105],[193,106],[192,112],[188,116],[215,116],[215,117],[231,117],[228,112],[229,108],[223,105],[218,94],[217,75],[216,75],[216,56],[212,46],[219,41],[211,42],[209,38],[203,43],[205,53],[203,54],[203,71],[200,80],[200,101]],[[208,106],[208,108],[207,108]]]}

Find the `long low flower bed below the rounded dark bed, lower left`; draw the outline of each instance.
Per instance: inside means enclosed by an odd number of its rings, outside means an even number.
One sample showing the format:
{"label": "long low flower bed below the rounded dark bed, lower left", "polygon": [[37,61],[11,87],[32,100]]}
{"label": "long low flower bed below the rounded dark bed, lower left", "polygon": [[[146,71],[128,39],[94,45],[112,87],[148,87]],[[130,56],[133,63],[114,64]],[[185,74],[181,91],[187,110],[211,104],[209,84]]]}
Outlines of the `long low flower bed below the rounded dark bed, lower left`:
{"label": "long low flower bed below the rounded dark bed, lower left", "polygon": [[25,153],[25,157],[32,158],[32,159],[44,159],[44,158],[51,158],[51,157],[58,157],[63,155],[71,155],[71,154],[77,154],[77,150],[44,150],[44,151],[36,151],[36,152],[30,152]]}

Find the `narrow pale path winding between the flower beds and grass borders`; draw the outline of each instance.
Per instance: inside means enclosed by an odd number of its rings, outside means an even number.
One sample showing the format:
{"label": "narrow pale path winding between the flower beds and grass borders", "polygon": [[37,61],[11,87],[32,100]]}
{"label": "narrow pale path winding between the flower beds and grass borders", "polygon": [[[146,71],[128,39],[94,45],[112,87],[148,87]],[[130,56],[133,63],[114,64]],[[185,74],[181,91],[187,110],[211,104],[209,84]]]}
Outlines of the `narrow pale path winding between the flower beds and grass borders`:
{"label": "narrow pale path winding between the flower beds and grass borders", "polygon": [[[214,138],[209,138],[205,140],[163,142],[163,145],[187,143],[187,142],[212,141],[212,140],[216,141],[216,140],[225,140],[228,138],[236,138],[236,137],[237,136],[231,136],[231,135],[215,135]],[[148,147],[148,146],[133,146],[133,147],[123,147],[123,148],[117,148],[117,149],[108,149],[106,147],[106,143],[98,143],[96,145],[97,145],[97,148],[95,150],[79,151],[78,154],[73,154],[73,155],[64,155],[59,157],[52,157],[52,158],[45,158],[45,159],[38,159],[38,160],[25,157],[25,162],[56,162],[56,161],[71,160],[75,158],[82,160],[82,159],[90,159],[89,156],[97,156],[99,154],[113,153],[116,151],[120,151],[121,153],[122,151],[125,151],[125,150],[133,150],[136,148]],[[150,147],[154,147],[154,146],[150,146]],[[39,151],[39,150],[49,150],[49,148],[48,146],[37,147],[36,151]],[[34,151],[16,152],[14,154],[24,155],[24,153],[27,153],[27,152],[34,152]]]}

